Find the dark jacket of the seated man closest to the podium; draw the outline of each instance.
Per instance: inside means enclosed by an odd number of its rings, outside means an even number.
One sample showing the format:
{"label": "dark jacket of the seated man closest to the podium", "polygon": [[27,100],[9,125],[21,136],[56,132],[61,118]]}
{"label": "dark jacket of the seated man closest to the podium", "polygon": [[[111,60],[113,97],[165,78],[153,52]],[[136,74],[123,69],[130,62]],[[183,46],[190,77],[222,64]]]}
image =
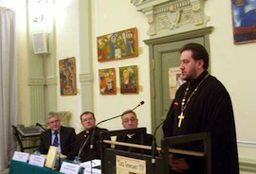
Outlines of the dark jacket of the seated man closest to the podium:
{"label": "dark jacket of the seated man closest to the podium", "polygon": [[[148,133],[144,134],[144,142],[142,142],[141,135],[139,133],[134,134],[132,138],[129,138],[126,134],[122,134],[117,137],[117,141],[125,142],[125,143],[133,143],[137,145],[152,146],[153,135]],[[146,150],[146,149],[143,150],[140,148],[131,148],[131,147],[124,147],[119,145],[117,145],[115,148],[120,150],[130,151],[130,152],[144,153],[148,155],[152,154],[151,150]]]}

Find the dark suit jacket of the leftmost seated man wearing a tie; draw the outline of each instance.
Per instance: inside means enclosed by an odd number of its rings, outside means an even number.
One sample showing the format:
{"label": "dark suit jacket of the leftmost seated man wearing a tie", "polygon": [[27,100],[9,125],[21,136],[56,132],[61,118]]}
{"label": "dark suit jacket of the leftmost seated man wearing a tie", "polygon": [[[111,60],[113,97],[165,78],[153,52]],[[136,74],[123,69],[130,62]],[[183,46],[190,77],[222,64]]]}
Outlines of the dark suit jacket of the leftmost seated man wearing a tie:
{"label": "dark suit jacket of the leftmost seated man wearing a tie", "polygon": [[[49,146],[51,146],[51,137],[50,129],[42,132],[39,145],[39,151],[42,154],[47,154]],[[76,132],[73,128],[61,126],[60,138],[62,154],[66,155],[67,158],[70,159],[70,152],[74,147],[74,142],[76,141]]]}

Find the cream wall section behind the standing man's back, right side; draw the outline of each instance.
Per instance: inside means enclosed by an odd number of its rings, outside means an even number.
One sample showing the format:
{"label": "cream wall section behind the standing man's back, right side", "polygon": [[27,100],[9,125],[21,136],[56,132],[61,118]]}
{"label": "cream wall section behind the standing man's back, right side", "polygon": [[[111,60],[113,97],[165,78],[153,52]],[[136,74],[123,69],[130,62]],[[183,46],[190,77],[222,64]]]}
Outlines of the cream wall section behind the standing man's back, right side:
{"label": "cream wall section behind the standing man's back, right side", "polygon": [[256,136],[253,132],[256,130],[254,125],[256,79],[253,75],[256,71],[254,68],[256,60],[253,50],[256,43],[233,44],[229,1],[207,1],[206,13],[210,16],[209,26],[214,26],[210,34],[211,74],[219,78],[229,91],[238,141],[248,141],[253,144],[249,148],[244,144],[238,144],[240,158],[255,159]]}

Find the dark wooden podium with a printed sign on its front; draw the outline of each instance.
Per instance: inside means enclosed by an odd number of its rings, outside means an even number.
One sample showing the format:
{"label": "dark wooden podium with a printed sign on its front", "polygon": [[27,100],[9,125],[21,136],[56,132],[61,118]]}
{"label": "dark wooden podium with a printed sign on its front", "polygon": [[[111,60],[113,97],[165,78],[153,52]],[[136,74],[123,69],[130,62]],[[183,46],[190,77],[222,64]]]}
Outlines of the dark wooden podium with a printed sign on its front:
{"label": "dark wooden podium with a printed sign on its front", "polygon": [[[152,149],[152,147],[150,146],[106,140],[107,137],[118,136],[120,134],[140,133],[141,141],[143,141],[144,132],[146,132],[146,128],[101,132],[101,173],[116,174],[117,170],[119,170],[120,168],[120,170],[128,169],[125,170],[123,173],[131,172],[137,174],[170,174],[169,154],[176,153],[203,158],[205,162],[205,174],[210,174],[210,133],[207,132],[164,138],[161,141],[161,148],[156,148],[156,150],[158,151],[158,155],[156,155],[155,157],[153,157],[152,155],[133,153],[114,148],[114,145],[119,145],[132,148]],[[171,146],[174,146],[176,144],[183,144],[194,141],[203,142],[203,152],[170,148]],[[105,148],[103,144],[111,144],[112,148]],[[155,159],[155,163],[152,163],[153,158]],[[125,166],[127,167],[125,168]],[[140,170],[139,166],[141,166]]]}

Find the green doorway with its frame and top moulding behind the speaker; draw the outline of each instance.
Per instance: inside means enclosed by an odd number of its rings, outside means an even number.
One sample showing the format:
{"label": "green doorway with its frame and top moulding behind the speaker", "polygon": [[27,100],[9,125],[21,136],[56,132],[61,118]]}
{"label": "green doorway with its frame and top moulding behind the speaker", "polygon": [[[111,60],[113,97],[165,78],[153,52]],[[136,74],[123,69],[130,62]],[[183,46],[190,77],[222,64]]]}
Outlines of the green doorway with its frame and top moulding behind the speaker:
{"label": "green doorway with its frame and top moulding behind the speaker", "polygon": [[209,34],[212,27],[144,41],[150,46],[152,134],[157,146],[163,138],[161,123],[173,102],[170,90],[169,69],[179,67],[179,50],[186,43],[200,43],[209,51]]}

